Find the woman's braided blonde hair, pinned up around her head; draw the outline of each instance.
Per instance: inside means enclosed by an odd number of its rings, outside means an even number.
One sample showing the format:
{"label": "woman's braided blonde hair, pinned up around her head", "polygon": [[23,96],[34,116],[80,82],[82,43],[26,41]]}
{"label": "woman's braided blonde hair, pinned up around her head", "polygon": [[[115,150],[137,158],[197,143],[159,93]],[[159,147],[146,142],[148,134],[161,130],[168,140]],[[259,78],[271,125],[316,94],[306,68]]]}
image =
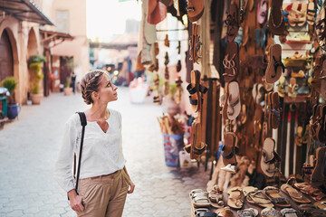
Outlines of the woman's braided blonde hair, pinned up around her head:
{"label": "woman's braided blonde hair, pinned up around her head", "polygon": [[91,99],[91,93],[99,91],[103,74],[107,74],[107,72],[101,70],[93,70],[85,74],[82,78],[82,99],[84,99],[87,105],[93,103],[93,100]]}

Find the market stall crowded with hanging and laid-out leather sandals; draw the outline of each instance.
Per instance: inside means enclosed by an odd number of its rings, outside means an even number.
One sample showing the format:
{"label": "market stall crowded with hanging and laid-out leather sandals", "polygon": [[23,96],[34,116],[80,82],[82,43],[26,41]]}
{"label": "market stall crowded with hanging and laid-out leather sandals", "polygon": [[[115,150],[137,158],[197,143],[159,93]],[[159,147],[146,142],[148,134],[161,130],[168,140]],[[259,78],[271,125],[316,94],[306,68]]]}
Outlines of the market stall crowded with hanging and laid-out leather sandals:
{"label": "market stall crowded with hanging and laid-out leather sandals", "polygon": [[326,216],[325,5],[142,1],[138,68],[152,71],[153,102],[194,117],[171,112],[160,127],[188,132],[177,146],[212,169],[191,216]]}

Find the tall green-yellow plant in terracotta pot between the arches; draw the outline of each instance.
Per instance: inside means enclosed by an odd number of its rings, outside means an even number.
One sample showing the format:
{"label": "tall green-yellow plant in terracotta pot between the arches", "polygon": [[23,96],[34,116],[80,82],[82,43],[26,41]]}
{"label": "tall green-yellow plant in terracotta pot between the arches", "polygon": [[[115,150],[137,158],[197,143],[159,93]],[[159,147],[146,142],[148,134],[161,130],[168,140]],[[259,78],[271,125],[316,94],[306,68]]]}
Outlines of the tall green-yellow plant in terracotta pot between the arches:
{"label": "tall green-yellow plant in terracotta pot between the arches", "polygon": [[28,69],[32,72],[30,89],[33,104],[40,104],[43,98],[43,94],[40,93],[41,80],[43,79],[41,73],[43,61],[46,61],[45,57],[38,55],[31,56],[27,61]]}

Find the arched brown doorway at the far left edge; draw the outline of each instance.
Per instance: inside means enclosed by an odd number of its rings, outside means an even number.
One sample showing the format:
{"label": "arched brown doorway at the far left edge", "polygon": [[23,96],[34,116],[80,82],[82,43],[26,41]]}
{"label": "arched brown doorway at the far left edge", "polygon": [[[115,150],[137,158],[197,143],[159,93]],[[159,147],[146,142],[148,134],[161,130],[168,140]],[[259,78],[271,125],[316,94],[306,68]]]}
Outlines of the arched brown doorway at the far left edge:
{"label": "arched brown doorway at the far left edge", "polygon": [[6,30],[0,39],[0,81],[6,77],[14,76],[13,49]]}

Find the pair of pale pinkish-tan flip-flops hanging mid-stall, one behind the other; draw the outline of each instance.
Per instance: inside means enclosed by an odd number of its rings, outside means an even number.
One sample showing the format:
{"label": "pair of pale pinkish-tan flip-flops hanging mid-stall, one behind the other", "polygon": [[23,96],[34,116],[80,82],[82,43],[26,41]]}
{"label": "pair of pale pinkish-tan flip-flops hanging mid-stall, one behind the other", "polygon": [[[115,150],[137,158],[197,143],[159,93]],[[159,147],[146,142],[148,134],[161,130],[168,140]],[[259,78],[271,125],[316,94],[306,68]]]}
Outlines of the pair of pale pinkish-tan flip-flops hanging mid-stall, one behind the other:
{"label": "pair of pale pinkish-tan flip-flops hanging mid-stall, one behind the other", "polygon": [[226,83],[225,104],[223,106],[223,117],[234,120],[241,111],[239,84],[236,81]]}

